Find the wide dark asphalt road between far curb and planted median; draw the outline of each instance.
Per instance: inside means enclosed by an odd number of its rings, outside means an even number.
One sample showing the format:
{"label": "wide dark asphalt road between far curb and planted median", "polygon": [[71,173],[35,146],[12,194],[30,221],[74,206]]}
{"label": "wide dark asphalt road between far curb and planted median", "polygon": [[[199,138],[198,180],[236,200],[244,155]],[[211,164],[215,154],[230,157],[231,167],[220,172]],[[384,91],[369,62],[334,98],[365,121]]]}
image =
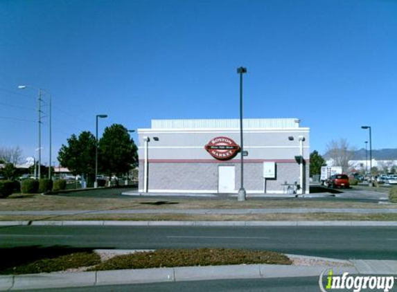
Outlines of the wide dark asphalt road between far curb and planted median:
{"label": "wide dark asphalt road between far curb and planted median", "polygon": [[252,248],[340,259],[397,259],[393,227],[101,227],[0,228],[0,250],[73,248]]}

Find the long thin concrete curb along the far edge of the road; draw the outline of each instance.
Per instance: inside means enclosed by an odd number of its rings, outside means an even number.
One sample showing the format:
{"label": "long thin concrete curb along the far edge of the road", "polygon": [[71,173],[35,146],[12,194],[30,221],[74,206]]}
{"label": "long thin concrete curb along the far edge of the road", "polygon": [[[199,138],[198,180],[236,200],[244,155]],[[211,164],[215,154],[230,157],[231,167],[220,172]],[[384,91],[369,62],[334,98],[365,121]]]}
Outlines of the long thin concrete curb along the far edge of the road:
{"label": "long thin concrete curb along the far edge of the road", "polygon": [[0,221],[0,226],[396,227],[396,221]]}

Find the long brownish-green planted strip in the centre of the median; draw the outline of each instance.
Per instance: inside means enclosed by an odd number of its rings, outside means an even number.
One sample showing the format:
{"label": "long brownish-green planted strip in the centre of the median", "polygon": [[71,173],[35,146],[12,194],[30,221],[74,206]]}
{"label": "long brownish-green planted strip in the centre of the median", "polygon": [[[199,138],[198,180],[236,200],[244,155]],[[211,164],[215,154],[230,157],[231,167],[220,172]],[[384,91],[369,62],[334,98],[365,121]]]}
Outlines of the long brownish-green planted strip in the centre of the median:
{"label": "long brownish-green planted strip in the centre of the median", "polygon": [[292,264],[281,254],[263,250],[229,248],[159,249],[150,252],[119,255],[100,263],[89,271],[128,268],[165,268],[176,266],[220,266],[229,264]]}

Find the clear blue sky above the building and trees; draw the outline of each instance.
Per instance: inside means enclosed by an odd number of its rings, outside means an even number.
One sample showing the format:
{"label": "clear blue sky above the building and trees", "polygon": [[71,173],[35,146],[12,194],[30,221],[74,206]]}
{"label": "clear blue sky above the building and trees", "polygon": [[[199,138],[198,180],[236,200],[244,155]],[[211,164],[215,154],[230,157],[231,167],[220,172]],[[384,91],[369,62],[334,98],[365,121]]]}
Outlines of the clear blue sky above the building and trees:
{"label": "clear blue sky above the building and trees", "polygon": [[[151,119],[301,119],[311,150],[397,147],[397,1],[0,0],[0,147],[37,148],[53,97],[53,158],[71,134]],[[44,104],[44,116],[48,112]],[[48,118],[43,120],[43,161]],[[134,136],[136,140],[136,136]],[[55,160],[55,159],[53,159]]]}

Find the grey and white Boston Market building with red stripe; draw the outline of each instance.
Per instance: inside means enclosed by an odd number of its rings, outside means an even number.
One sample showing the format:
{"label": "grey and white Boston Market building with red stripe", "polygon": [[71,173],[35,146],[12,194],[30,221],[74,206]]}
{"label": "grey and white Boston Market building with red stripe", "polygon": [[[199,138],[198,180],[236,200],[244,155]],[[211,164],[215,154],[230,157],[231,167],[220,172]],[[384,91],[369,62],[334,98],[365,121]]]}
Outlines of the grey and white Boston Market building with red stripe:
{"label": "grey and white Boston Market building with red stripe", "polygon": [[[309,131],[296,118],[243,120],[247,194],[309,192]],[[152,120],[138,134],[139,192],[238,192],[238,119]]]}

